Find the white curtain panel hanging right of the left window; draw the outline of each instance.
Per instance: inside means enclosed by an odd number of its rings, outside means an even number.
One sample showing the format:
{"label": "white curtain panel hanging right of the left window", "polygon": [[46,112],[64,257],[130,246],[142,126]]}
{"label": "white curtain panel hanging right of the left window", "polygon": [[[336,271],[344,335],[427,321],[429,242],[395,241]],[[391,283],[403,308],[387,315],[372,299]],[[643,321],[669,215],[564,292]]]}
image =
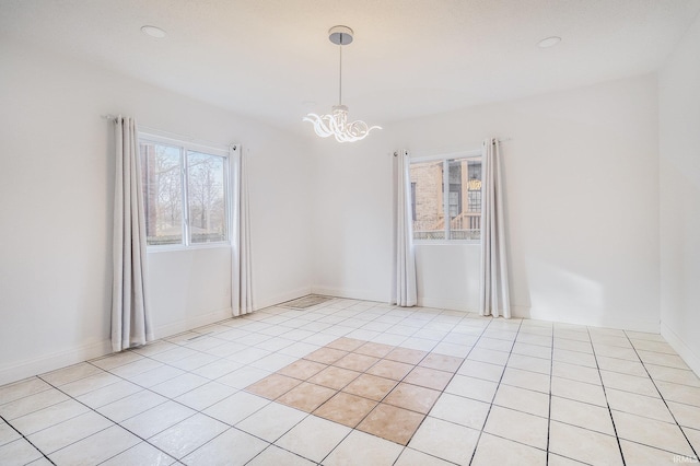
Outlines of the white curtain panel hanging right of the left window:
{"label": "white curtain panel hanging right of the left window", "polygon": [[250,207],[248,170],[241,144],[232,144],[229,156],[233,179],[232,303],[233,315],[253,312],[253,268],[250,259]]}

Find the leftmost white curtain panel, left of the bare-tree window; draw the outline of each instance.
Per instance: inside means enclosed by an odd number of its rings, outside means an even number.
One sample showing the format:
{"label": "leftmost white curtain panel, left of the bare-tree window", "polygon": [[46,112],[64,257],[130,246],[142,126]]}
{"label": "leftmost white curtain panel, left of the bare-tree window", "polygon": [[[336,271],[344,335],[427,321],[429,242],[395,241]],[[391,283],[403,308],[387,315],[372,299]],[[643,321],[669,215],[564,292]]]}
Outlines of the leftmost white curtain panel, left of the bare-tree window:
{"label": "leftmost white curtain panel, left of the bare-tree window", "polygon": [[154,335],[145,283],[145,215],[133,118],[118,116],[115,119],[115,143],[112,349],[121,351],[145,345]]}

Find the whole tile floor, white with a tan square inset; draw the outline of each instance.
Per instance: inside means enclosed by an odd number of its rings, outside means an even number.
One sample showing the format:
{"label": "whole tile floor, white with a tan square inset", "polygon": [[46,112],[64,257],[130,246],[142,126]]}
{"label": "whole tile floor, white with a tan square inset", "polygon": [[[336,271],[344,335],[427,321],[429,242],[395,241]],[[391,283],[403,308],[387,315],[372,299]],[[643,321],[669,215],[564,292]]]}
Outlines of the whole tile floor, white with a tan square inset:
{"label": "whole tile floor, white with a tan square inset", "polygon": [[0,387],[1,465],[698,463],[658,335],[335,299]]}

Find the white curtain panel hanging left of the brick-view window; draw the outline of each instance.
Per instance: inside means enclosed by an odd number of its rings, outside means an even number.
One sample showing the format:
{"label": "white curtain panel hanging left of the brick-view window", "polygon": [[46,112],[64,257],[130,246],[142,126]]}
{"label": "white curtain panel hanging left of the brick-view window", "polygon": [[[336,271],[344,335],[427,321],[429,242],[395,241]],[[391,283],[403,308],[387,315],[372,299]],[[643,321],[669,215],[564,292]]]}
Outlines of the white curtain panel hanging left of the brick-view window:
{"label": "white curtain panel hanging left of the brick-view window", "polygon": [[411,219],[410,159],[407,150],[394,153],[394,287],[392,303],[415,306],[416,254]]}

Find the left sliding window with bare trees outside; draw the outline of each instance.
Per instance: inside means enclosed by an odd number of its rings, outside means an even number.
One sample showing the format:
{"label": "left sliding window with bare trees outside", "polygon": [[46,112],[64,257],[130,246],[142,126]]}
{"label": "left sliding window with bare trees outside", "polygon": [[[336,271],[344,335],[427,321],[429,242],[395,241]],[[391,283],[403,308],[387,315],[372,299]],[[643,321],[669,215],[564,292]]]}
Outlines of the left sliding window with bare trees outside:
{"label": "left sliding window with bare trees outside", "polygon": [[228,152],[178,141],[140,139],[149,246],[228,240]]}

